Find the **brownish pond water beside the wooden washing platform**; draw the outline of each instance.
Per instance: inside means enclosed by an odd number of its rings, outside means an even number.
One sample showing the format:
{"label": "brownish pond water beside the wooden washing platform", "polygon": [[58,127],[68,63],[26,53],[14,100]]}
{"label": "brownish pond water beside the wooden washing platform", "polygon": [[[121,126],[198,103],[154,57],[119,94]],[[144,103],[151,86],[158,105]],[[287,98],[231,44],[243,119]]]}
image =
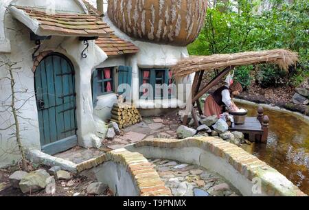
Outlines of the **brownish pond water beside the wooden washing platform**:
{"label": "brownish pond water beside the wooden washing platform", "polygon": [[[257,107],[238,104],[257,115]],[[265,161],[309,195],[309,125],[293,115],[264,108],[270,119],[267,144],[253,143],[244,149]]]}

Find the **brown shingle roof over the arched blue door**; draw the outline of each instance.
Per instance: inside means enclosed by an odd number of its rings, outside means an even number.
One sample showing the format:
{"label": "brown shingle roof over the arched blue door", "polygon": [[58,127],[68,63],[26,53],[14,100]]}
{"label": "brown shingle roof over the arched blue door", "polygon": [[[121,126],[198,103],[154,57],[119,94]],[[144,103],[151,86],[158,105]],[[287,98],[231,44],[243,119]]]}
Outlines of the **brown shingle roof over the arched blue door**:
{"label": "brown shingle roof over the arched blue door", "polygon": [[36,8],[14,7],[18,10],[23,10],[34,21],[38,21],[39,30],[49,32],[50,35],[108,36],[109,33],[113,32],[102,21],[100,16],[91,14],[47,14]]}

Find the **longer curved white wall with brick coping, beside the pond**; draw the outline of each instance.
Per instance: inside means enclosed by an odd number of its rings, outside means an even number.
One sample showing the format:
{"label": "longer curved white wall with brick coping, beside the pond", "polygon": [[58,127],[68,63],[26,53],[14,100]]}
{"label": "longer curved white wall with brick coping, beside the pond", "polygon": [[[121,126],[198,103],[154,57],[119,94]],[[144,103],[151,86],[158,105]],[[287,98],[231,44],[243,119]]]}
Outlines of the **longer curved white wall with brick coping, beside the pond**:
{"label": "longer curved white wall with brick coping, beside the pond", "polygon": [[255,181],[261,183],[262,196],[306,196],[273,167],[218,137],[152,139],[126,149],[141,152],[148,158],[181,159],[187,163],[212,167],[212,170],[231,181],[244,196],[255,195],[252,191]]}

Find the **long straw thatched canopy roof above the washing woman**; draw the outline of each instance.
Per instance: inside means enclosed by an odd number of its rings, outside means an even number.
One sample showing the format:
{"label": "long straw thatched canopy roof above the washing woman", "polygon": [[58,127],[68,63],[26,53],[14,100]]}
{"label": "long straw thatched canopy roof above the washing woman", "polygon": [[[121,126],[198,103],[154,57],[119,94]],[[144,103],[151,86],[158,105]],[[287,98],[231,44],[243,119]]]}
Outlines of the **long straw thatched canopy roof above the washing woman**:
{"label": "long straw thatched canopy roof above the washing woman", "polygon": [[273,63],[288,71],[298,60],[298,54],[286,49],[247,51],[237,54],[214,54],[212,56],[192,56],[180,60],[171,70],[176,78],[182,78],[196,71],[210,71],[242,65]]}

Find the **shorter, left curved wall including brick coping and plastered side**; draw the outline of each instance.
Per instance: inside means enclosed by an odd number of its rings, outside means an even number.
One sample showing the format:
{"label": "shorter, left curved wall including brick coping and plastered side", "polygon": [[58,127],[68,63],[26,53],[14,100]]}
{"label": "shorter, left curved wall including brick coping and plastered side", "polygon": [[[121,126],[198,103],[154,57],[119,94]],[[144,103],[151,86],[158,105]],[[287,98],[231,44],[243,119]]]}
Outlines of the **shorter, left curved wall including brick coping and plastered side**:
{"label": "shorter, left curved wall including brick coping and plastered side", "polygon": [[91,174],[108,185],[116,196],[171,196],[157,171],[142,154],[113,150],[76,166],[77,172]]}

